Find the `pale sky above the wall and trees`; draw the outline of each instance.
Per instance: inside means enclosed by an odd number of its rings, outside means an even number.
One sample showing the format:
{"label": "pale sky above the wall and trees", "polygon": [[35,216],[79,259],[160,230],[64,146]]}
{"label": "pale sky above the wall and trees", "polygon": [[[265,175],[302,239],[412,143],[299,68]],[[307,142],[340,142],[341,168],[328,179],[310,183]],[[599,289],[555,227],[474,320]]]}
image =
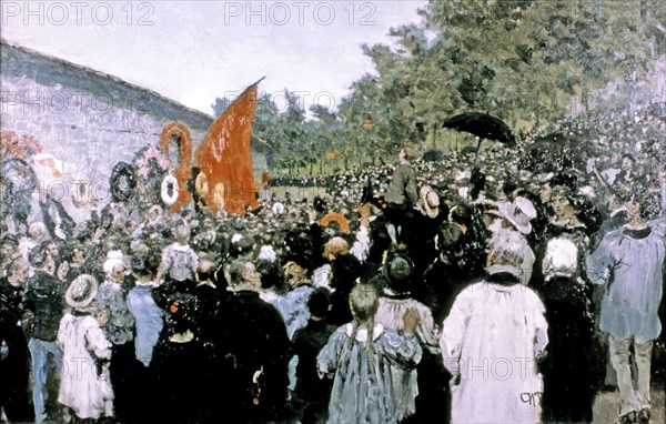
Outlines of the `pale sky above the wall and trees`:
{"label": "pale sky above the wall and trees", "polygon": [[417,22],[407,1],[6,1],[6,40],[110,73],[212,114],[262,77],[305,108],[335,109],[372,72],[362,43],[391,43],[389,29]]}

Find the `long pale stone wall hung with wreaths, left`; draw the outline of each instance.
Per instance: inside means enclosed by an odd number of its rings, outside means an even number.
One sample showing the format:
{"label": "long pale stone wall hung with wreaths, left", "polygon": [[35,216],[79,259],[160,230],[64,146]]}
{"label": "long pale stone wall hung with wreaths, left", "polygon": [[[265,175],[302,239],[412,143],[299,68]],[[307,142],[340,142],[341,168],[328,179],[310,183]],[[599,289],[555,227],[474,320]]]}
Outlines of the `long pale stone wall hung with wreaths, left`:
{"label": "long pale stone wall hung with wreaths, left", "polygon": [[[110,200],[112,168],[157,144],[167,124],[184,124],[198,145],[213,122],[213,117],[118,78],[4,42],[0,48],[0,129],[34,137],[42,152],[62,161],[54,192],[77,221],[90,211],[74,205],[74,181],[87,180],[103,205]],[[260,175],[265,158],[255,157]]]}

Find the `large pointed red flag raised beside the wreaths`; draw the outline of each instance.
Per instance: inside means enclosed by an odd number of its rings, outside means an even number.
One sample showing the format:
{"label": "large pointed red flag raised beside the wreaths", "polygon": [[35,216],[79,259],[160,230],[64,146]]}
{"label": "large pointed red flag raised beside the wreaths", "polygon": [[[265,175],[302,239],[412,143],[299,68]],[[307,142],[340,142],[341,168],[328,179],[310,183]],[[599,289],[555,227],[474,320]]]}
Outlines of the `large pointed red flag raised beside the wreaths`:
{"label": "large pointed red flag raised beside the wreaths", "polygon": [[194,154],[208,180],[205,201],[213,213],[224,208],[229,214],[244,215],[248,206],[258,208],[250,148],[258,84],[248,88],[211,124]]}

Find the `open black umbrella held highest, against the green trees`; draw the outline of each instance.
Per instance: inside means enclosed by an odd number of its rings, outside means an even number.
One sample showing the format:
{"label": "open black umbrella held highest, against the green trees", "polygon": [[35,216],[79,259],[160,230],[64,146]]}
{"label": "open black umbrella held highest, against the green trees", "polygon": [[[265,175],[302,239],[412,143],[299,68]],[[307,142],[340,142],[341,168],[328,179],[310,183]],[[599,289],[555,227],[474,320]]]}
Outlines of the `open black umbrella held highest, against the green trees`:
{"label": "open black umbrella held highest, against the green trees", "polygon": [[516,138],[508,125],[500,118],[484,112],[458,113],[447,118],[442,127],[478,137],[480,147],[484,139],[500,141],[506,145],[516,144]]}

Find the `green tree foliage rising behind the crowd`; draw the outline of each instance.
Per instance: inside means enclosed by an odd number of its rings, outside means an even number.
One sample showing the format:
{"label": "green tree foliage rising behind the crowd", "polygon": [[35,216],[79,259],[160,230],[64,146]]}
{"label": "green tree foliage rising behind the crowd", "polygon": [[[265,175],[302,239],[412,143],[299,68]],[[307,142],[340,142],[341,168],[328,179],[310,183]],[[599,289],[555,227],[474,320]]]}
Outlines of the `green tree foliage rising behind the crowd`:
{"label": "green tree foliage rising behind the crowd", "polygon": [[465,110],[537,129],[616,81],[630,109],[633,88],[666,54],[660,1],[431,0],[421,22],[391,30],[392,46],[362,47],[375,71],[337,110],[315,105],[306,120],[285,90],[284,110],[260,99],[254,133],[275,168],[312,173],[394,158],[404,143],[436,148],[442,122]]}

